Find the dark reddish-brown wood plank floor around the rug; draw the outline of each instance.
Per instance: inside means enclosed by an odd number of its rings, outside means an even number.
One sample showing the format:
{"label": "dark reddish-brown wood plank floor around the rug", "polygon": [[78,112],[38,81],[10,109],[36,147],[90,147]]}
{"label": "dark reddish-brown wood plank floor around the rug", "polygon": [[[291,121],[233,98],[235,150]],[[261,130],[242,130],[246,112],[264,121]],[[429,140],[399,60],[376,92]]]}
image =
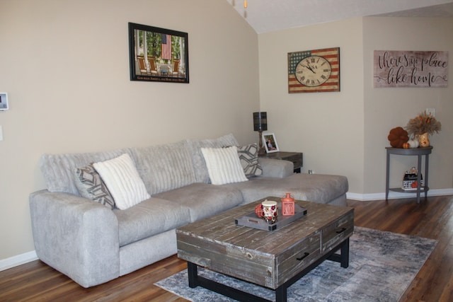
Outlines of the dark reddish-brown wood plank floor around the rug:
{"label": "dark reddish-brown wood plank floor around the rug", "polygon": [[[453,196],[360,202],[355,225],[439,240],[401,301],[453,301]],[[0,301],[186,301],[154,282],[186,269],[176,256],[89,289],[39,260],[0,272]]]}

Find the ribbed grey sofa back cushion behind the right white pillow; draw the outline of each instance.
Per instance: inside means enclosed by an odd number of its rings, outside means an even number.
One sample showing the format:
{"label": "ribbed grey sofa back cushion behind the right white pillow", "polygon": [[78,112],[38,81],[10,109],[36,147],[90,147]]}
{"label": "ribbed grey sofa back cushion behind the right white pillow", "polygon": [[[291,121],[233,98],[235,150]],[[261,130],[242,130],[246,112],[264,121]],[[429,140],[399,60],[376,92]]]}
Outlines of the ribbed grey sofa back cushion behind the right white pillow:
{"label": "ribbed grey sofa back cushion behind the right white pillow", "polygon": [[195,168],[197,182],[209,182],[210,175],[207,173],[205,158],[201,153],[202,148],[221,148],[226,146],[237,146],[238,141],[233,134],[226,134],[217,139],[203,139],[201,141],[187,140],[192,155],[192,163]]}

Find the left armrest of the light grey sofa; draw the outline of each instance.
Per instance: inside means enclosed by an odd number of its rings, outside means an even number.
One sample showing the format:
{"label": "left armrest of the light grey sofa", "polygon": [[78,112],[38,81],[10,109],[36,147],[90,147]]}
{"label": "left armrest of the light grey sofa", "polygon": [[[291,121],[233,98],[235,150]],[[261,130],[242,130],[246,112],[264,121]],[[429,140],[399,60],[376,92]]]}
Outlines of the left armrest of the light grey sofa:
{"label": "left armrest of the light grey sofa", "polygon": [[30,194],[36,254],[84,287],[120,275],[118,221],[112,210],[76,195]]}

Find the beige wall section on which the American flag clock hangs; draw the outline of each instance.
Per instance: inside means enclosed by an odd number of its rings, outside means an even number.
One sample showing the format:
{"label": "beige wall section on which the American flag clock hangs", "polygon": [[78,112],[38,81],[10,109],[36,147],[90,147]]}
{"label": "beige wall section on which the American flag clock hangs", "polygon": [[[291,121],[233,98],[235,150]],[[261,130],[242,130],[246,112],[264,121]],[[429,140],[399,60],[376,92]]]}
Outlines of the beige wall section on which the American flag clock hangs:
{"label": "beige wall section on which the American flag clock hangs", "polygon": [[[258,35],[261,110],[282,151],[304,153],[303,172],[346,175],[362,192],[362,19]],[[288,93],[287,54],[340,47],[340,92]]]}

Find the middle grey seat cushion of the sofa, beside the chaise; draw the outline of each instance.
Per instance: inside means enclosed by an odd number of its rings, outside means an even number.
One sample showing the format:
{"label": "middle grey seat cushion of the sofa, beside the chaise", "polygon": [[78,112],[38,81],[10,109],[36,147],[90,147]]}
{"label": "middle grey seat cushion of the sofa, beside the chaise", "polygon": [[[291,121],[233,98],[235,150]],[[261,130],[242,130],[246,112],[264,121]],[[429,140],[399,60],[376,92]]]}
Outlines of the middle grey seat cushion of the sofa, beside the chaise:
{"label": "middle grey seat cushion of the sofa, beside the chaise", "polygon": [[162,192],[154,195],[154,197],[171,200],[188,207],[190,209],[190,222],[219,214],[242,202],[241,192],[234,187],[201,182]]}

